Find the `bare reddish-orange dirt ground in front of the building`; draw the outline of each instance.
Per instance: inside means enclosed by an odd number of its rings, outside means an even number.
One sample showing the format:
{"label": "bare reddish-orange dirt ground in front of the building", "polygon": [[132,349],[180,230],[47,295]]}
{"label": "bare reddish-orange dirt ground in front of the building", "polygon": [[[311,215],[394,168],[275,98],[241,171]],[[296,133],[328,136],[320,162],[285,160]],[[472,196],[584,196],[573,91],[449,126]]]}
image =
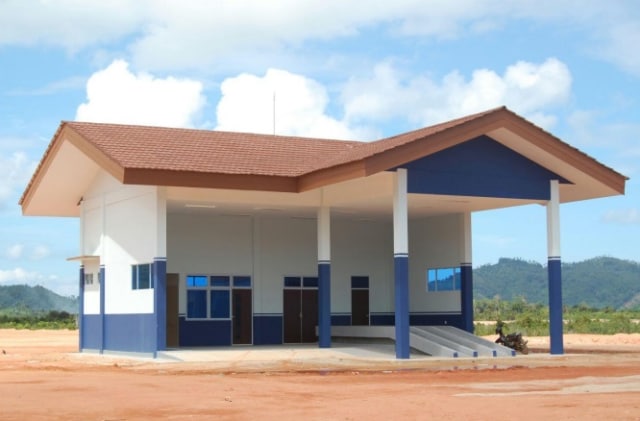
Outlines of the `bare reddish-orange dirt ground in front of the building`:
{"label": "bare reddish-orange dirt ground in front of the building", "polygon": [[553,357],[528,339],[534,353],[516,358],[243,371],[0,330],[0,420],[640,420],[640,335],[566,335]]}

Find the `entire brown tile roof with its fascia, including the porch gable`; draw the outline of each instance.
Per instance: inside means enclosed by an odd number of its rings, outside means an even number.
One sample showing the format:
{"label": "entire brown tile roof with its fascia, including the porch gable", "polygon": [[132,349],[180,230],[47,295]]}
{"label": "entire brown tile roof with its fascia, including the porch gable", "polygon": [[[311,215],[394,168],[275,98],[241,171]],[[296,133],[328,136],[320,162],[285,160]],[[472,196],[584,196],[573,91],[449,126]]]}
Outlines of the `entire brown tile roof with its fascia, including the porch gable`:
{"label": "entire brown tile roof with its fascia, including the porch gable", "polygon": [[538,146],[624,190],[626,177],[500,107],[369,143],[63,122],[20,204],[36,189],[65,131],[124,183],[304,191],[391,169],[501,127],[526,132]]}

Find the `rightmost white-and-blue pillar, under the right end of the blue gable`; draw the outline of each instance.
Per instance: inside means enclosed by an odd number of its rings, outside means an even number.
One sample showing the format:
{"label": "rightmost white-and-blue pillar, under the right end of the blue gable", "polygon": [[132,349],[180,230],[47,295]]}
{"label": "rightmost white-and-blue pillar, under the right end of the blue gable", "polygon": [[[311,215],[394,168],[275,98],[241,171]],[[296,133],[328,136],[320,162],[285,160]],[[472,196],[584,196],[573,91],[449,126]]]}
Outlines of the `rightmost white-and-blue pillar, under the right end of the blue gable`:
{"label": "rightmost white-and-blue pillar, under the right end of the blue gable", "polygon": [[547,203],[547,249],[549,272],[549,339],[551,354],[564,354],[562,319],[562,264],[560,259],[560,188],[551,180]]}

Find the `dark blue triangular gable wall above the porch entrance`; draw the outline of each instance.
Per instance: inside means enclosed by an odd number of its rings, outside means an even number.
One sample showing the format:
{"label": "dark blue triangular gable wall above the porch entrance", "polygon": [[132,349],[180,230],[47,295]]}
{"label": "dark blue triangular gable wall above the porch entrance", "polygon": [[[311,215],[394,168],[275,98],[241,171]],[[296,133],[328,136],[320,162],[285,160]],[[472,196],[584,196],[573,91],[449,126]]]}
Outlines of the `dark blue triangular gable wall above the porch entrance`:
{"label": "dark blue triangular gable wall above the porch entrance", "polygon": [[549,199],[549,180],[566,180],[488,136],[403,165],[409,193]]}

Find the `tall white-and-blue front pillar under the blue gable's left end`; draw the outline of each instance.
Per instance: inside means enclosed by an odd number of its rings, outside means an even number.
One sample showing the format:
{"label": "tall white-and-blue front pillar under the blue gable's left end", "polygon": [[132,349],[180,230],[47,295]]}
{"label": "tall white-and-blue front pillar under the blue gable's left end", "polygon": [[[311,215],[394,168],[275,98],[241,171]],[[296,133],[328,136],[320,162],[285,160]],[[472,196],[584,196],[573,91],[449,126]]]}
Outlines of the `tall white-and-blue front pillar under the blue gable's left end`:
{"label": "tall white-and-blue front pillar under the blue gable's left end", "polygon": [[395,172],[393,189],[393,258],[396,358],[409,358],[409,222],[407,170]]}

